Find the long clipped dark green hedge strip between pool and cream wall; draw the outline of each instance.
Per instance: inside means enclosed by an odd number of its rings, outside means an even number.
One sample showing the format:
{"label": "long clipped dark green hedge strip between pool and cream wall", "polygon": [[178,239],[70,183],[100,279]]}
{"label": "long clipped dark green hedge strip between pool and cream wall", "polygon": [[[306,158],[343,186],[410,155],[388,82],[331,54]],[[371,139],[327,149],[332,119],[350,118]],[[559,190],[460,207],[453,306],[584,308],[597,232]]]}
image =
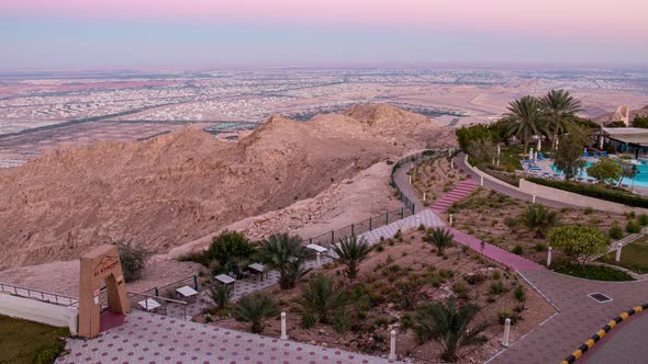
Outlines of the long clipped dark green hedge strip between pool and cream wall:
{"label": "long clipped dark green hedge strip between pool and cream wall", "polygon": [[648,198],[626,192],[624,190],[613,190],[599,184],[584,184],[579,182],[567,182],[556,180],[545,180],[529,177],[529,182],[546,185],[549,187],[578,193],[584,196],[616,202],[632,207],[648,208]]}

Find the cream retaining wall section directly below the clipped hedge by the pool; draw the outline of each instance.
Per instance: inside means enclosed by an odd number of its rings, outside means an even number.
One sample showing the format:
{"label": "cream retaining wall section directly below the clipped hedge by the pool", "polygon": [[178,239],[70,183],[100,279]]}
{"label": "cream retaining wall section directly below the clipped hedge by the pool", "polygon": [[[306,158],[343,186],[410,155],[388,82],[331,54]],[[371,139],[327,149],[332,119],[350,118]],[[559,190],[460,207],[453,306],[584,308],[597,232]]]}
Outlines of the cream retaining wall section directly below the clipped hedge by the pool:
{"label": "cream retaining wall section directly below the clipped hedge by the pool", "polygon": [[578,193],[562,191],[546,185],[533,183],[524,179],[519,180],[519,191],[528,194],[533,194],[535,192],[536,197],[539,198],[552,200],[580,207],[591,207],[604,212],[624,214],[629,213],[632,211],[636,211],[637,213],[648,213],[646,208],[629,207],[615,202],[583,196]]}

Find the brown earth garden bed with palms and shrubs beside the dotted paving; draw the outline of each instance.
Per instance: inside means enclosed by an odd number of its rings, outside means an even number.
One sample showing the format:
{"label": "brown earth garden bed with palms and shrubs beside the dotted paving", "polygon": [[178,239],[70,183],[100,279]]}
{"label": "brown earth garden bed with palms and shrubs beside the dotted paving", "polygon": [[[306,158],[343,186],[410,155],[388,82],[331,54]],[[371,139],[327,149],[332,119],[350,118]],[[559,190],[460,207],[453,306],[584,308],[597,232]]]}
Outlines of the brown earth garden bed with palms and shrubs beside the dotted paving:
{"label": "brown earth garden bed with palms and shrubs beside the dotted paving", "polygon": [[[353,280],[347,265],[329,263],[305,275],[294,288],[268,288],[264,297],[271,297],[275,307],[262,326],[264,334],[279,337],[277,314],[282,310],[288,312],[292,340],[386,356],[389,332],[395,330],[400,357],[436,362],[442,346],[425,329],[432,320],[425,312],[439,309],[434,304],[451,307],[456,302],[458,309],[473,310],[466,328],[485,325],[483,340],[476,341],[480,344],[457,354],[461,362],[483,362],[501,349],[504,318],[513,320],[515,340],[552,315],[550,305],[523,280],[481,255],[455,246],[439,255],[438,248],[426,242],[434,241],[434,235],[438,231],[422,228],[378,243]],[[242,310],[249,316],[253,303],[245,305],[243,309],[241,303],[232,304],[197,320],[249,330],[250,323],[235,319],[242,318]]]}

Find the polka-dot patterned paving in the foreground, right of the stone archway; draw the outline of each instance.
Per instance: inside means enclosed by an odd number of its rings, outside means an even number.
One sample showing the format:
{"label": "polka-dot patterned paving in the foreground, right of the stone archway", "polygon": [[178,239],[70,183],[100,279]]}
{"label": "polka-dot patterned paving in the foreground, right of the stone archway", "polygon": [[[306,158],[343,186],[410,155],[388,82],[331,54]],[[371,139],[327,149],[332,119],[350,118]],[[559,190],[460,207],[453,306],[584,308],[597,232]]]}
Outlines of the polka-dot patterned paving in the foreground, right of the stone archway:
{"label": "polka-dot patterned paving in the foreground, right of the stone archway", "polygon": [[387,359],[133,311],[93,340],[69,340],[56,363],[389,363]]}

